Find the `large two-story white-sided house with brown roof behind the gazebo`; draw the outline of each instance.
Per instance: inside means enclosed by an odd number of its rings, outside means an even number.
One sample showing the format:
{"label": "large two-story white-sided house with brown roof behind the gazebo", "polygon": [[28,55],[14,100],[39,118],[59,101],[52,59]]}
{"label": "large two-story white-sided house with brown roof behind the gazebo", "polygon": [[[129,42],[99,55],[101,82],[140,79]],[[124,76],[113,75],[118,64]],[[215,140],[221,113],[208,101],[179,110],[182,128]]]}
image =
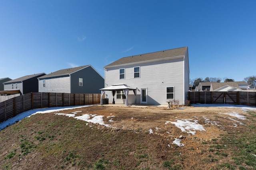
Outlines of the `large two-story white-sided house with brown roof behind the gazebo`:
{"label": "large two-story white-sided house with brown roof behind the gazebo", "polygon": [[[189,90],[188,47],[124,57],[104,66],[105,88],[126,84],[136,88],[128,94],[128,103],[167,105],[167,100],[178,100],[184,105]],[[112,92],[105,92],[112,99]],[[106,97],[105,97],[106,98]],[[122,90],[114,95],[116,104],[124,104]]]}

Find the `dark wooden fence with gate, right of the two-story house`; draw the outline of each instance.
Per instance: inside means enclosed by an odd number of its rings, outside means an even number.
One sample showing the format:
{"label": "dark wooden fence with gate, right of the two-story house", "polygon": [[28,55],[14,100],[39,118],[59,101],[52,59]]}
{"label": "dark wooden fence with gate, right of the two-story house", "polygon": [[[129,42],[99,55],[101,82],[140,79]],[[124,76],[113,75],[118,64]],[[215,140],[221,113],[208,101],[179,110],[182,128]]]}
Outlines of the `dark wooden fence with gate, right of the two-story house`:
{"label": "dark wooden fence with gate, right of the two-story house", "polygon": [[256,92],[188,92],[191,104],[237,104],[256,106]]}

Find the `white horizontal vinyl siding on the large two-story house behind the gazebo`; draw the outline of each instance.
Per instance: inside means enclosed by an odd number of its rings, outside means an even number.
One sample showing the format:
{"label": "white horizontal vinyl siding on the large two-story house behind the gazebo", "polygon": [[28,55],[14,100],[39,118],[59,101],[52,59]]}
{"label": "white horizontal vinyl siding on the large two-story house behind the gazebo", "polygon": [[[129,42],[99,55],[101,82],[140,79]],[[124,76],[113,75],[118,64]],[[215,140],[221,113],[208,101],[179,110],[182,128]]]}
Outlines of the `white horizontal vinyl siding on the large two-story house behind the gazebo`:
{"label": "white horizontal vinyl siding on the large two-story house behind the gazebo", "polygon": [[[188,65],[188,64],[187,64]],[[134,67],[140,66],[140,79],[134,78]],[[148,104],[166,103],[166,87],[175,87],[175,100],[179,100],[180,104],[184,104],[185,100],[185,81],[189,82],[189,71],[184,71],[184,58],[173,59],[169,61],[157,61],[152,63],[144,63],[140,65],[121,66],[125,68],[125,79],[119,79],[119,67],[106,68],[105,83],[109,86],[112,84],[127,84],[133,88],[148,88]],[[187,80],[188,79],[188,80]],[[188,85],[186,85],[188,86]],[[107,87],[107,86],[105,86]],[[189,87],[189,86],[188,86]],[[109,98],[112,98],[111,92],[106,92]],[[111,97],[110,97],[111,96]],[[130,90],[128,100],[130,104],[134,104],[135,95]],[[116,103],[124,103],[124,100],[116,100]],[[137,101],[140,103],[140,90],[137,90]]]}

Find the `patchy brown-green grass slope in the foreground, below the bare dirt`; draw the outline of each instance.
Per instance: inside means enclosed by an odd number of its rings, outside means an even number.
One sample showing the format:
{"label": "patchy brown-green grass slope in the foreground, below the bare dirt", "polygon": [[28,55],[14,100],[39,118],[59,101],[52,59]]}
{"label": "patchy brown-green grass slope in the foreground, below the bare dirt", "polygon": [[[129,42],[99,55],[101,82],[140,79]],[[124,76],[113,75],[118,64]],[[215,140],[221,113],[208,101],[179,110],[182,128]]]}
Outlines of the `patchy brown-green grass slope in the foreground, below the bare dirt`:
{"label": "patchy brown-green grass slope in the foreground, below the bare dirt", "polygon": [[256,170],[254,115],[248,112],[250,122],[239,133],[230,128],[218,138],[188,138],[177,147],[175,137],[147,129],[109,131],[72,117],[36,114],[0,131],[0,169]]}

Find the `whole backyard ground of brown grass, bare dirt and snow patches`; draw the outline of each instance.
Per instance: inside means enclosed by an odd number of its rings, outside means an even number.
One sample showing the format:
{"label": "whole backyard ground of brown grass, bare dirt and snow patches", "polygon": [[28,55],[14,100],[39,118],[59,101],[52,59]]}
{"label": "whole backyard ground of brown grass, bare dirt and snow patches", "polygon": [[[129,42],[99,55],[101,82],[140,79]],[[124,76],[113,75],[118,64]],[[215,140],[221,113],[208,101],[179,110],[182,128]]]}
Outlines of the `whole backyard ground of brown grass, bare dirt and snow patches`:
{"label": "whole backyard ground of brown grass, bare dirt and snow patches", "polygon": [[[74,119],[83,115],[87,121]],[[3,169],[255,170],[255,121],[256,111],[240,107],[104,105],[36,114],[0,131],[0,161]],[[34,146],[27,154],[24,141]]]}

